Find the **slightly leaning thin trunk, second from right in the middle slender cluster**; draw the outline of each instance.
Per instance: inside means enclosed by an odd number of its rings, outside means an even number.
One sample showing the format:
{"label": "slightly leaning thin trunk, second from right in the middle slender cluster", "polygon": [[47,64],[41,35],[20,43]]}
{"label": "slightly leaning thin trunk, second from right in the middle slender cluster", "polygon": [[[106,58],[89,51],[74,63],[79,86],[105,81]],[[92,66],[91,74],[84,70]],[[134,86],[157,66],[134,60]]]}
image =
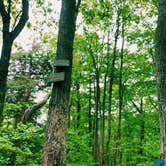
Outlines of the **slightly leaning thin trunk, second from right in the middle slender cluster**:
{"label": "slightly leaning thin trunk, second from right in the middle slender cluster", "polygon": [[114,50],[113,50],[113,58],[112,58],[112,68],[110,72],[110,80],[109,80],[109,98],[108,98],[108,129],[107,129],[107,142],[106,142],[106,160],[105,165],[110,165],[110,142],[111,142],[111,107],[112,107],[112,91],[113,91],[113,83],[114,83],[114,70],[115,70],[115,61],[116,61],[116,52],[117,52],[117,41],[119,37],[119,14],[117,15],[116,20],[116,32],[115,32],[115,40],[114,40]]}

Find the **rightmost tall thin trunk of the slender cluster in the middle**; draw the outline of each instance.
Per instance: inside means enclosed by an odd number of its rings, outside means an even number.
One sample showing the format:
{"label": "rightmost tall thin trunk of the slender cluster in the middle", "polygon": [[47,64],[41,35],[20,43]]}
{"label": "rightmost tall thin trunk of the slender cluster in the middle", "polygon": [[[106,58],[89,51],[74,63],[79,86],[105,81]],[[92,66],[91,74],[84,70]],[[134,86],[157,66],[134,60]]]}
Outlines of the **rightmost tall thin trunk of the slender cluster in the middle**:
{"label": "rightmost tall thin trunk of the slender cluster in the middle", "polygon": [[120,59],[120,76],[119,76],[119,112],[118,112],[118,128],[115,149],[115,166],[121,165],[121,121],[122,121],[122,106],[123,106],[123,56],[124,56],[124,22],[122,23],[122,48]]}

